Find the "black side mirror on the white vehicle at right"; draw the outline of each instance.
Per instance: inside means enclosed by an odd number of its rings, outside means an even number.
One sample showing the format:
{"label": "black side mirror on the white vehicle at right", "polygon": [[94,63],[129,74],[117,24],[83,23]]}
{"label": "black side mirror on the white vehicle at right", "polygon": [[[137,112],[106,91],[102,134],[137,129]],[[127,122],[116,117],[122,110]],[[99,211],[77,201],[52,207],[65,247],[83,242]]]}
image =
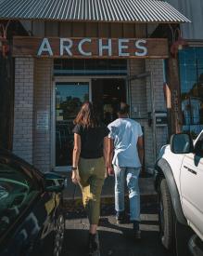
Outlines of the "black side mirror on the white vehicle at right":
{"label": "black side mirror on the white vehicle at right", "polygon": [[171,152],[174,154],[188,154],[194,151],[193,140],[186,133],[172,135],[170,144]]}

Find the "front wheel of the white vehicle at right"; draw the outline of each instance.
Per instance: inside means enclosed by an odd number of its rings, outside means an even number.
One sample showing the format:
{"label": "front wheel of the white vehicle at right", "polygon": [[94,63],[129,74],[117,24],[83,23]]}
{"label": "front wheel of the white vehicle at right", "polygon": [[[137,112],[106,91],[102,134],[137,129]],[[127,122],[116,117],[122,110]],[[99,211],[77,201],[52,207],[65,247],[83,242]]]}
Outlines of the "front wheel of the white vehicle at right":
{"label": "front wheel of the white vehicle at right", "polygon": [[159,186],[159,230],[163,246],[172,249],[173,245],[173,217],[169,187],[166,179],[162,179]]}

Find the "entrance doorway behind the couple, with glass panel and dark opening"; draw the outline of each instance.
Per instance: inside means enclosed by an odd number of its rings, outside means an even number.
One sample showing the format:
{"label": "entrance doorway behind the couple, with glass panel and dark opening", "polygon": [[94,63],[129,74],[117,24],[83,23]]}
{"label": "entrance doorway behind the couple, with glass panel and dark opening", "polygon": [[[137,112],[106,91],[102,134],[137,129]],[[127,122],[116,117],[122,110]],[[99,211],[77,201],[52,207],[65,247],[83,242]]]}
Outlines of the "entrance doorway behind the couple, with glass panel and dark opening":
{"label": "entrance doorway behind the couple, with glass panel and dark opening", "polygon": [[123,78],[82,79],[57,78],[55,84],[54,167],[67,170],[71,166],[73,120],[83,101],[93,101],[100,119],[108,125],[117,118],[121,101],[126,101]]}

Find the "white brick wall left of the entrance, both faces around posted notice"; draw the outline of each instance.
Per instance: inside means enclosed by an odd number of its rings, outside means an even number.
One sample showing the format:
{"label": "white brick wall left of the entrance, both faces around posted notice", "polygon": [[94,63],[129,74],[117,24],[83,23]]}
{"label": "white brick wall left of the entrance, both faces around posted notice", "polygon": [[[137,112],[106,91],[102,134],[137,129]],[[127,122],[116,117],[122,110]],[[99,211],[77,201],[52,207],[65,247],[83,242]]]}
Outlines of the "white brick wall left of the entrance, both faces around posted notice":
{"label": "white brick wall left of the entrance, both faces around posted notice", "polygon": [[[51,168],[53,60],[16,58],[13,152],[43,171]],[[49,113],[49,129],[36,129],[38,111]]]}

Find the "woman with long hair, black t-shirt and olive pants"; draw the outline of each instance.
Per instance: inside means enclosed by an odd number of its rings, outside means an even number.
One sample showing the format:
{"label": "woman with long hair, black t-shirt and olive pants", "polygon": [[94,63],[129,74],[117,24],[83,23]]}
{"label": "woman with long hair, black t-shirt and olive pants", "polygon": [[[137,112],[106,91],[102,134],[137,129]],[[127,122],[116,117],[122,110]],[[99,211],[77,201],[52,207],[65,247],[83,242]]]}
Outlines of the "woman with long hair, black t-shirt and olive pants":
{"label": "woman with long hair, black t-shirt and olive pants", "polygon": [[79,183],[82,201],[90,222],[88,249],[98,249],[96,229],[100,215],[100,195],[105,179],[108,155],[108,128],[95,115],[91,102],[82,104],[74,120],[72,182]]}

